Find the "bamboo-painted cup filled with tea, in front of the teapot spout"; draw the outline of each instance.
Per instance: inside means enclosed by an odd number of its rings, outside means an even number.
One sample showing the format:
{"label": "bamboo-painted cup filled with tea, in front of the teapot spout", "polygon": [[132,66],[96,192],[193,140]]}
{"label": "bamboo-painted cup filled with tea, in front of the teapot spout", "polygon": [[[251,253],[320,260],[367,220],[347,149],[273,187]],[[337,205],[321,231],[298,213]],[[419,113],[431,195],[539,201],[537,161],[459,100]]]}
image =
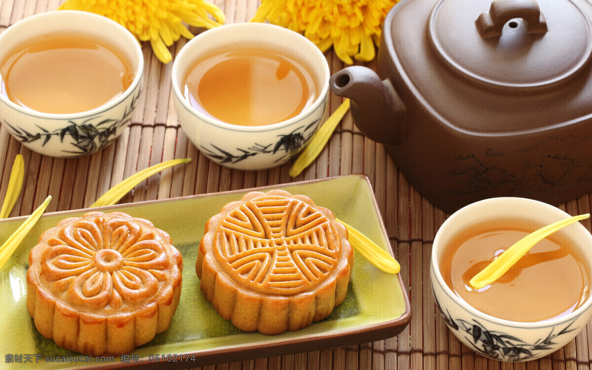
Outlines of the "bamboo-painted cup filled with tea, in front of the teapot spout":
{"label": "bamboo-painted cup filled with tea, in front of the teapot spout", "polygon": [[232,169],[268,169],[288,162],[316,132],[329,65],[301,34],[237,23],[189,41],[175,57],[172,86],[179,123],[205,156]]}

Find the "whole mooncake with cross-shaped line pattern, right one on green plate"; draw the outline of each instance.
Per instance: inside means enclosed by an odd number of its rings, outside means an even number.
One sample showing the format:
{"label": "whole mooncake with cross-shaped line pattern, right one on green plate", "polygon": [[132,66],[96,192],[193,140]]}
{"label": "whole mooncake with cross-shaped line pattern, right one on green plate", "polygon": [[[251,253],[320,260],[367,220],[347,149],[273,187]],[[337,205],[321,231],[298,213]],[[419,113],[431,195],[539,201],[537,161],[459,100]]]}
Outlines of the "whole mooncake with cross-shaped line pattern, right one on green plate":
{"label": "whole mooncake with cross-shaped line pattern, right one on green plate", "polygon": [[195,271],[218,314],[279,334],[329,316],[353,268],[348,231],[303,195],[250,192],[205,225]]}

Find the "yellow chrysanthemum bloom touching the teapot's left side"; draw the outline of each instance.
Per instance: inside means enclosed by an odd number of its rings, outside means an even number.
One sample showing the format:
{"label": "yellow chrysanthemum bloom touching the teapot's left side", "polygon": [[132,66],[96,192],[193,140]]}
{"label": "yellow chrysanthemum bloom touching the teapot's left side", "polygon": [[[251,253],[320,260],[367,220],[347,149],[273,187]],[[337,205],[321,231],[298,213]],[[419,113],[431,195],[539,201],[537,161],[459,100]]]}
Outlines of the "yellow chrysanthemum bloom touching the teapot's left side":
{"label": "yellow chrysanthemum bloom touching the teapot's left side", "polygon": [[384,17],[398,0],[262,0],[253,22],[303,33],[321,51],[333,45],[343,62],[374,59]]}

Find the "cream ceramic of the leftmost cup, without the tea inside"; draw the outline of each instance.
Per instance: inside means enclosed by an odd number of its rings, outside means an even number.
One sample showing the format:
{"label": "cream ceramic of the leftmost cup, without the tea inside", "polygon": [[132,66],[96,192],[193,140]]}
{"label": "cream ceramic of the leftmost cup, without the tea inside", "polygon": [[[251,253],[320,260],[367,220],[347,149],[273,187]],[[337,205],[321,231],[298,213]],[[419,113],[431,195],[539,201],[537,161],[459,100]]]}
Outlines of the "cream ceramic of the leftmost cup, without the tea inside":
{"label": "cream ceramic of the leftmost cup, without the tea inside", "polygon": [[144,56],[136,38],[109,18],[83,11],[51,11],[24,18],[0,34],[0,63],[19,46],[47,34],[91,37],[123,53],[133,69],[129,88],[107,104],[72,114],[21,107],[0,94],[0,123],[18,141],[42,155],[79,157],[112,143],[131,121],[139,100]]}

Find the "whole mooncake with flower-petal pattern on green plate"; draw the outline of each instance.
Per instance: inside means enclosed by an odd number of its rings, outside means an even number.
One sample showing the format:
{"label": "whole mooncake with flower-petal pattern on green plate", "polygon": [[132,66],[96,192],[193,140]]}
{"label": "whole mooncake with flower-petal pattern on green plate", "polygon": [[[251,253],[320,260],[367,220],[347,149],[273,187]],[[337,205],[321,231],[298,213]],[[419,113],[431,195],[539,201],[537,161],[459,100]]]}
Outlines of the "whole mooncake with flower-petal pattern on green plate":
{"label": "whole mooncake with flower-petal pattern on green plate", "polygon": [[165,331],[183,260],[143,218],[89,212],[41,234],[29,254],[27,311],[37,330],[86,355],[119,355]]}

